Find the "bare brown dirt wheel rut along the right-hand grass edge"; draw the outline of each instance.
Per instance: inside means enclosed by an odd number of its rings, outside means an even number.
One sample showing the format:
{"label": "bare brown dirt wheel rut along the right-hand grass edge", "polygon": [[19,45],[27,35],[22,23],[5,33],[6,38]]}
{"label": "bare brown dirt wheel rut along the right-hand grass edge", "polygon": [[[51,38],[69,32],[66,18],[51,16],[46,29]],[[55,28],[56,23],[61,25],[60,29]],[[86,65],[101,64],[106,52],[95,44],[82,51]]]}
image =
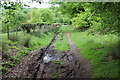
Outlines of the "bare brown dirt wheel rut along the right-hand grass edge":
{"label": "bare brown dirt wheel rut along the right-hand grass edge", "polygon": [[75,58],[78,59],[78,61],[80,61],[81,68],[82,68],[83,73],[84,73],[83,76],[85,78],[90,77],[90,64],[89,64],[89,61],[84,59],[80,55],[80,49],[76,48],[75,44],[70,39],[70,32],[66,33],[66,37],[67,37],[67,41],[68,41],[68,46],[70,48],[69,54],[74,54]]}

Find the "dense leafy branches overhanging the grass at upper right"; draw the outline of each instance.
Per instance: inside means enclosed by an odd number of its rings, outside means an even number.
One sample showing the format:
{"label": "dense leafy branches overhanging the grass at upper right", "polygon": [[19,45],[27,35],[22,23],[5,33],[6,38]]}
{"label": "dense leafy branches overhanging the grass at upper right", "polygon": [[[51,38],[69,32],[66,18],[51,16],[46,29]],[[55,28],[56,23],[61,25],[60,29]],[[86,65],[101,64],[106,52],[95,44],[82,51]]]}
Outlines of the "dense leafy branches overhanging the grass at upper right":
{"label": "dense leafy branches overhanging the grass at upper right", "polygon": [[87,28],[90,33],[119,34],[119,3],[61,2],[60,10],[68,14],[74,27]]}

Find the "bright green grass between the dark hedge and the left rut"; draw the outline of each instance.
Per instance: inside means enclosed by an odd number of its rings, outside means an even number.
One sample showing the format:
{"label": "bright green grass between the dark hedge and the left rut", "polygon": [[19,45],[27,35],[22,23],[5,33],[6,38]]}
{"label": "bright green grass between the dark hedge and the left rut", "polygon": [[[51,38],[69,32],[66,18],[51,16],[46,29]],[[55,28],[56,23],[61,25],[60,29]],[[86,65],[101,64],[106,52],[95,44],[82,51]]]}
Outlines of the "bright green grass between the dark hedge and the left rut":
{"label": "bright green grass between the dark hedge and the left rut", "polygon": [[[14,33],[11,33],[10,35],[13,35]],[[7,40],[7,34],[1,34],[2,36],[2,41],[8,41]],[[26,34],[24,32],[19,32],[18,33],[18,43],[19,44],[23,44],[25,40],[27,40],[27,38],[30,37],[30,41],[29,41],[29,47],[31,48],[41,48],[45,45],[47,45],[50,40],[52,39],[52,33],[50,33],[49,35],[43,35],[43,37],[35,37],[32,36],[30,34]],[[15,42],[13,42],[15,43]]]}

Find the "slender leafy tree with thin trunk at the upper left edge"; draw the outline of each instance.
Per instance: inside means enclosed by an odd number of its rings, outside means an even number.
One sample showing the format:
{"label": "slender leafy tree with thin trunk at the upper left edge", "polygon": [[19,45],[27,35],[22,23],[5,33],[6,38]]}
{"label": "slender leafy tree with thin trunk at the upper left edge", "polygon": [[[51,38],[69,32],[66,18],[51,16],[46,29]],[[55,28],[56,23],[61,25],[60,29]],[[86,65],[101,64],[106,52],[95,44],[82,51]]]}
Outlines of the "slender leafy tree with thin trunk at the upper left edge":
{"label": "slender leafy tree with thin trunk at the upper left edge", "polygon": [[13,19],[14,16],[17,12],[17,10],[19,10],[22,7],[21,2],[4,2],[2,4],[3,7],[3,20],[2,20],[2,24],[3,24],[3,29],[7,30],[7,35],[8,35],[8,39],[9,39],[9,31],[10,28],[14,25]]}

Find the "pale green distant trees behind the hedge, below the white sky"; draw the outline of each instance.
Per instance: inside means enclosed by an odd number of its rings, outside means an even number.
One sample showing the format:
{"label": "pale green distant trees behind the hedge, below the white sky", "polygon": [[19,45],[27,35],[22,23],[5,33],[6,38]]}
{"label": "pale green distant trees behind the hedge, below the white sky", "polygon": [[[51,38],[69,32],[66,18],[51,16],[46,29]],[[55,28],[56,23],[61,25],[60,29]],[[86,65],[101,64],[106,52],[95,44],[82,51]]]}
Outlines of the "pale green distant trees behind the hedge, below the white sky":
{"label": "pale green distant trees behind the hedge, below the white sky", "polygon": [[70,23],[70,18],[53,6],[45,9],[33,8],[29,14],[31,14],[29,23]]}

